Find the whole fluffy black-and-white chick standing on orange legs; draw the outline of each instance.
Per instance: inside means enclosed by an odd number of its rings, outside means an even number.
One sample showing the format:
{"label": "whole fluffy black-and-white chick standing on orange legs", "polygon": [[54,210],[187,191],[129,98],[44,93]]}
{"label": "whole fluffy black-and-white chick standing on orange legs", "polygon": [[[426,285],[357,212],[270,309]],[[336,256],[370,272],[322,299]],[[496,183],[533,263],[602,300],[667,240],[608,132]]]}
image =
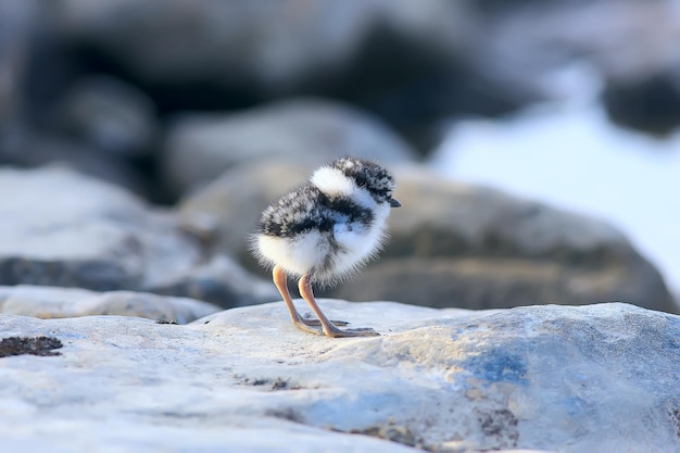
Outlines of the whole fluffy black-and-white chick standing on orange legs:
{"label": "whole fluffy black-and-white chick standing on orange legs", "polygon": [[[274,268],[274,281],[298,327],[332,337],[376,335],[338,329],[318,309],[311,284],[335,284],[375,256],[386,239],[390,209],[400,205],[393,190],[394,179],[380,165],[343,158],[316,169],[310,184],[265,209],[253,249],[263,265]],[[301,295],[319,322],[297,313],[286,274],[300,277]]]}

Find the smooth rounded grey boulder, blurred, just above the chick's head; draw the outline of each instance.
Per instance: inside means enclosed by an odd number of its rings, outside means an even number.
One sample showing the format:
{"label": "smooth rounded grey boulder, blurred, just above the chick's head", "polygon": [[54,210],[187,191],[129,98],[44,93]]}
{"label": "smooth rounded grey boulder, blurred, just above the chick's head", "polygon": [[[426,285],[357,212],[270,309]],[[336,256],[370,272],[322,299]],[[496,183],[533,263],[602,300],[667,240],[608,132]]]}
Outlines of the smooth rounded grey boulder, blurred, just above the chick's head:
{"label": "smooth rounded grey boulder, blurred, just above the chick's head", "polygon": [[366,113],[300,99],[238,114],[179,119],[165,140],[163,166],[167,186],[182,193],[254,160],[285,158],[314,166],[344,155],[408,162],[415,152]]}

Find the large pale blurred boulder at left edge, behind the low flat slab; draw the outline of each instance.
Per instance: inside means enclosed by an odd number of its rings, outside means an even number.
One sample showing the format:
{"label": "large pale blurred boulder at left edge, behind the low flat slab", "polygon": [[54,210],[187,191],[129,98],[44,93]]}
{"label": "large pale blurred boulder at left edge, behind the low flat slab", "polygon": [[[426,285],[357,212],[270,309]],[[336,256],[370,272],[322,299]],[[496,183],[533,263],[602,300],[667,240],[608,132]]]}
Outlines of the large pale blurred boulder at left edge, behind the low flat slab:
{"label": "large pale blurred boulder at left edge, behind the low flat slab", "polygon": [[[169,213],[64,168],[0,171],[0,284],[131,289],[238,306],[275,290],[226,257],[207,261]],[[231,275],[219,275],[219,270]]]}

